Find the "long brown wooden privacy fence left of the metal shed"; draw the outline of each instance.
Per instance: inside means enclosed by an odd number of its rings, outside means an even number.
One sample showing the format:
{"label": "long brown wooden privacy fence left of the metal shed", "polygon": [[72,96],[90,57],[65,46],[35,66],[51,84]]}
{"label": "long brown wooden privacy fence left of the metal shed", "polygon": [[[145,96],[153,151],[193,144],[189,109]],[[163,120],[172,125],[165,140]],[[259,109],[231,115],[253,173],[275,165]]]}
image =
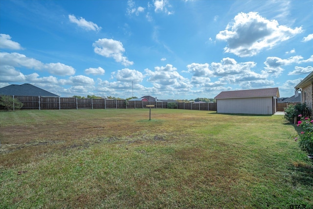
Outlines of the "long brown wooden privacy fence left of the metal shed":
{"label": "long brown wooden privacy fence left of the metal shed", "polygon": [[[117,109],[117,108],[146,108],[146,105],[155,105],[154,108],[169,108],[175,103],[175,108],[183,110],[210,110],[216,111],[216,103],[184,103],[184,102],[144,102],[128,101],[125,99],[78,99],[75,97],[44,97],[44,96],[12,96],[23,103],[22,110],[26,109]],[[0,109],[5,107],[0,106]]]}

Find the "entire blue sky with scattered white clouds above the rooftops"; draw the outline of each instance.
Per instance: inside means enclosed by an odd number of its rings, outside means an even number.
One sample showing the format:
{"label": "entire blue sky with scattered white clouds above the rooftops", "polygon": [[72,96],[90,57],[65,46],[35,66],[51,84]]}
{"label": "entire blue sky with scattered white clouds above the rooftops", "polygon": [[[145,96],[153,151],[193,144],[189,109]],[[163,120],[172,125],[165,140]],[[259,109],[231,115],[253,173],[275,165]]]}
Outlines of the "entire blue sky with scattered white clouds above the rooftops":
{"label": "entire blue sky with scattered white clouds above the rooftops", "polygon": [[309,0],[1,0],[0,87],[213,98],[313,71]]}

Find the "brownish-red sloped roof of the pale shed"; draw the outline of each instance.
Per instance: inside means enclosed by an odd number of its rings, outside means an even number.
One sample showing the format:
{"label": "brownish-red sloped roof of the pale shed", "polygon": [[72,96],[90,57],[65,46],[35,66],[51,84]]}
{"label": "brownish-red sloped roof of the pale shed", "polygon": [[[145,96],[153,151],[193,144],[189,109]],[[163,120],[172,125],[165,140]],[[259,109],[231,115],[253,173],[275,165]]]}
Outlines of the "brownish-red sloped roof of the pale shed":
{"label": "brownish-red sloped roof of the pale shed", "polygon": [[230,98],[251,98],[251,97],[279,97],[278,88],[269,89],[250,89],[221,92],[214,99],[230,99]]}

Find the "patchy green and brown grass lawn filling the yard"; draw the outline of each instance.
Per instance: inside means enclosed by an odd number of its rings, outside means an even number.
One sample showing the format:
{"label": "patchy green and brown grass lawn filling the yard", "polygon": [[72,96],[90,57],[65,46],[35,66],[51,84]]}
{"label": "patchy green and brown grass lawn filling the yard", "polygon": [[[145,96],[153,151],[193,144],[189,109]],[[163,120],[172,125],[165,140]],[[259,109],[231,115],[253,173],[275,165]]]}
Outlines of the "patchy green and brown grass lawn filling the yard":
{"label": "patchy green and brown grass lawn filling the yard", "polygon": [[283,116],[152,109],[151,117],[0,112],[0,208],[313,207],[313,163]]}

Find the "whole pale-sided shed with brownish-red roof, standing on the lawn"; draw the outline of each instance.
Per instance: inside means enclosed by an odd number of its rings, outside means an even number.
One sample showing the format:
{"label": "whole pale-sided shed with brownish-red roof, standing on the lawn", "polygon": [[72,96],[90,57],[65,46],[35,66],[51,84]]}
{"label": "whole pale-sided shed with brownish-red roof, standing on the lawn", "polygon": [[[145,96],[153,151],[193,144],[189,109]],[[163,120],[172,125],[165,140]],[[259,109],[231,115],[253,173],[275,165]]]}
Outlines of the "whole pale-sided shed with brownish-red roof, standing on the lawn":
{"label": "whole pale-sided shed with brownish-red roof, standing on the lawn", "polygon": [[221,92],[214,99],[217,113],[273,115],[278,97],[278,88],[268,88]]}

